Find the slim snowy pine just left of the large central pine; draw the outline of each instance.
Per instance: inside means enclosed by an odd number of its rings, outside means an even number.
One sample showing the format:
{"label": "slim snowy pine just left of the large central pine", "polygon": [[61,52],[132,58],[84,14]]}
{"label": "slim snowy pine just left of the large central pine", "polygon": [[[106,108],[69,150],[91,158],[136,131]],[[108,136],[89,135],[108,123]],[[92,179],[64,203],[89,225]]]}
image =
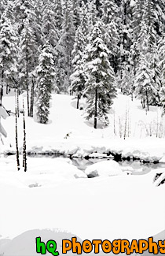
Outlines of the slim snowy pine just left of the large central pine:
{"label": "slim snowy pine just left of the large central pine", "polygon": [[83,89],[85,86],[85,75],[84,75],[84,62],[83,54],[85,49],[85,42],[82,28],[79,27],[75,34],[75,44],[72,50],[72,75],[70,77],[72,83],[69,90],[75,92],[77,97],[77,109],[79,109],[79,99],[83,94]]}

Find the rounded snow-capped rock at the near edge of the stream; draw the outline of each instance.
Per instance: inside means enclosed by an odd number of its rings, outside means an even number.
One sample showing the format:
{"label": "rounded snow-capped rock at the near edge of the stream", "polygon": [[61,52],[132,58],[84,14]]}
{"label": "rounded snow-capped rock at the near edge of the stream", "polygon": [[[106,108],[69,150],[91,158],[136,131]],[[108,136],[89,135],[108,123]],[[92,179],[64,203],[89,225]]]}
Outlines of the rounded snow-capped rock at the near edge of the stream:
{"label": "rounded snow-capped rock at the near edge of the stream", "polygon": [[100,161],[94,165],[90,165],[85,171],[88,177],[95,176],[115,176],[122,174],[122,170],[116,161]]}

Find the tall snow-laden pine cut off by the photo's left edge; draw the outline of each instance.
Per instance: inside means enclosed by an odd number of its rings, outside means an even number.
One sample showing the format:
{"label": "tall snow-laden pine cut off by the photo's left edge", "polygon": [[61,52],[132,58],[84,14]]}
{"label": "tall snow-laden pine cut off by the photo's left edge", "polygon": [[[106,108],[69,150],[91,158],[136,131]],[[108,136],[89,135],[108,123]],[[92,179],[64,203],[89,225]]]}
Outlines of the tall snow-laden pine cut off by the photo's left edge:
{"label": "tall snow-laden pine cut off by the photo's left edge", "polygon": [[15,28],[6,15],[0,20],[0,106],[2,106],[3,87],[15,86],[17,72],[17,37]]}

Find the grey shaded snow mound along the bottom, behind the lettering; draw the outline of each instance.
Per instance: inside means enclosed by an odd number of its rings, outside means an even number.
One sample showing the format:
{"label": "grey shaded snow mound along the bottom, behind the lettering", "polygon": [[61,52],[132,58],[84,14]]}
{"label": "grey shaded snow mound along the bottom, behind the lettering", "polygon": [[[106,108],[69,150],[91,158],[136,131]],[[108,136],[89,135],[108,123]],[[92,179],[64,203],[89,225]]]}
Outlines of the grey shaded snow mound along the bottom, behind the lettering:
{"label": "grey shaded snow mound along the bottom, behind the lettering", "polygon": [[[68,232],[62,232],[60,230],[31,230],[24,232],[20,236],[17,236],[16,238],[10,240],[10,239],[0,239],[0,254],[3,254],[4,256],[37,256],[35,250],[35,238],[40,236],[42,242],[46,243],[50,239],[57,242],[57,251],[62,254],[62,239],[69,239],[72,240],[72,237],[75,237],[74,234],[68,233]],[[151,234],[151,236],[153,236]],[[77,236],[76,236],[77,237]],[[165,230],[163,232],[159,232],[155,236],[153,236],[153,241],[157,242],[159,240],[165,239]],[[77,237],[77,241],[82,243],[82,239]],[[101,247],[100,247],[101,250]],[[101,252],[102,255],[106,255],[105,253]],[[148,251],[145,251],[143,253],[144,255],[150,255]],[[45,255],[50,255],[49,253],[46,253]],[[52,255],[52,254],[51,254]],[[72,253],[72,251],[68,252],[68,255],[75,255]],[[86,254],[82,254],[86,255]],[[90,253],[90,256],[94,256],[96,254]],[[108,255],[114,255],[114,254],[108,254]],[[122,255],[126,255],[125,253]],[[132,254],[134,255],[134,254]]]}

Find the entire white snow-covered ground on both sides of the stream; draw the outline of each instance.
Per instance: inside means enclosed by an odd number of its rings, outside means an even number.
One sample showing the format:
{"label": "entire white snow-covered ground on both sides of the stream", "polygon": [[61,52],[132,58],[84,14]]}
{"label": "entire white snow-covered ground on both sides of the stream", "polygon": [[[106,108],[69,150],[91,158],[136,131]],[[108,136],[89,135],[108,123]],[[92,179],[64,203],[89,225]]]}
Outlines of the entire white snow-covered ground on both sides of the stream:
{"label": "entire white snow-covered ground on both sides of the stream", "polygon": [[[109,114],[110,125],[103,128],[99,124],[95,130],[90,121],[84,120],[83,110],[75,109],[72,98],[53,95],[49,124],[38,124],[26,117],[29,152],[91,158],[101,158],[103,153],[111,152],[145,161],[165,162],[165,139],[156,138],[156,133],[161,137],[164,131],[160,108],[151,107],[146,115],[138,100],[131,102],[129,97],[119,95]],[[3,105],[14,112],[14,101],[11,93],[4,98]],[[81,104],[84,106],[85,103]],[[126,111],[130,137],[123,139]],[[18,122],[21,151],[22,114]],[[90,240],[146,239],[158,233],[165,239],[165,186],[156,187],[158,180],[153,183],[156,173],[162,173],[163,169],[152,170],[143,176],[127,175],[121,171],[124,168],[114,162],[110,164],[112,160],[109,160],[83,172],[72,165],[69,158],[27,158],[27,173],[23,169],[17,172],[16,157],[5,158],[3,155],[15,151],[15,117],[11,115],[2,120],[2,125],[8,136],[2,138],[4,145],[0,144],[0,255],[5,252],[4,256],[27,256],[25,250],[22,249],[22,253],[16,250],[16,244],[25,241],[25,235],[19,235],[46,228],[55,228],[64,236],[67,236],[66,231]],[[88,179],[89,169],[101,176]],[[114,172],[118,175],[111,176]],[[29,234],[33,237],[36,232]],[[19,237],[13,239],[16,236]],[[13,241],[6,240],[8,237]],[[30,239],[30,235],[27,238]],[[31,244],[28,256],[35,255],[34,243],[28,244]]]}

